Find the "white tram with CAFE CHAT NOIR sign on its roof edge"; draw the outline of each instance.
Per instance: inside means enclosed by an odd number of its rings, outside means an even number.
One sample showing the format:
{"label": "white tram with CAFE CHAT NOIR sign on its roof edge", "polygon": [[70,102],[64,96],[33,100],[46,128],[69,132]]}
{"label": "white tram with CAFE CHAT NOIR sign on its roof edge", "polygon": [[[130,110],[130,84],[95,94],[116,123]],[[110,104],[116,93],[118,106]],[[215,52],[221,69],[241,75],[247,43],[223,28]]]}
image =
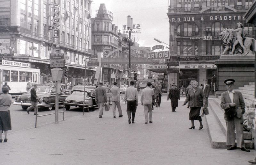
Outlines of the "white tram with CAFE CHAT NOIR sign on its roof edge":
{"label": "white tram with CAFE CHAT NOIR sign on its roof edge", "polygon": [[11,88],[10,95],[27,92],[27,83],[40,83],[40,69],[30,68],[30,63],[2,60],[0,65],[0,93],[5,82]]}

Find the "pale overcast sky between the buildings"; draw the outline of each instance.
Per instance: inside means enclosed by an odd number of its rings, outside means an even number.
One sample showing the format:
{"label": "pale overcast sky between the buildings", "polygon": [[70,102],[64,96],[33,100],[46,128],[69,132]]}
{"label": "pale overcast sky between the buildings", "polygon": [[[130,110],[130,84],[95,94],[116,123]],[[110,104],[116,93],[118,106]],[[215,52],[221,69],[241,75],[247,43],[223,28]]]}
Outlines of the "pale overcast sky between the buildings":
{"label": "pale overcast sky between the buildings", "polygon": [[105,4],[108,11],[113,13],[113,22],[122,31],[123,24],[127,24],[127,16],[133,18],[134,23],[141,23],[141,33],[135,39],[143,47],[153,47],[160,44],[154,40],[159,39],[169,44],[168,22],[169,0],[94,0],[92,2],[92,17],[100,4]]}

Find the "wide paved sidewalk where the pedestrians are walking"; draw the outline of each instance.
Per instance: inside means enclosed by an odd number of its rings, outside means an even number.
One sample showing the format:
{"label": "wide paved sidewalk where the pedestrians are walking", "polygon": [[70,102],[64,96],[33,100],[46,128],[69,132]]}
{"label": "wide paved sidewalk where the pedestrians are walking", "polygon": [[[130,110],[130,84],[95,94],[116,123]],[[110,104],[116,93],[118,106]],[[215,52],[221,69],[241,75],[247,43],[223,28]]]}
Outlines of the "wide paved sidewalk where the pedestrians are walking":
{"label": "wide paved sidewalk where the pedestrians are walking", "polygon": [[254,159],[254,150],[213,149],[205,118],[202,130],[198,130],[198,121],[195,130],[188,130],[189,109],[181,106],[183,101],[177,112],[171,112],[164,97],[161,107],[154,107],[153,123],[147,125],[141,105],[135,124],[128,124],[126,104],[121,102],[122,118],[118,114],[113,118],[112,111],[104,111],[103,118],[98,117],[98,111],[85,116],[81,112],[59,124],[12,133],[7,143],[0,143],[0,164],[247,165]]}

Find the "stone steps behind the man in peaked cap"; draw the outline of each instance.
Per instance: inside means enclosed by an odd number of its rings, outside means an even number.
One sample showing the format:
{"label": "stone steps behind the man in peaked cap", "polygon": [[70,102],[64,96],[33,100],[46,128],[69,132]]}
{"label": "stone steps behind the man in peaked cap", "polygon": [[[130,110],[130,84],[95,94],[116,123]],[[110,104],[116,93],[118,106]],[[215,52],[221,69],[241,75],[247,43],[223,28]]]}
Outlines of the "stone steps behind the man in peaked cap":
{"label": "stone steps behind the man in peaked cap", "polygon": [[[243,94],[245,104],[250,104],[254,99],[254,83],[239,87],[238,90]],[[224,119],[224,110],[220,108],[220,97],[208,99],[209,115],[206,115],[206,122],[208,125],[208,133],[212,143],[212,148],[226,148],[226,121]],[[244,130],[245,147],[249,149],[254,148],[254,140],[252,133]]]}

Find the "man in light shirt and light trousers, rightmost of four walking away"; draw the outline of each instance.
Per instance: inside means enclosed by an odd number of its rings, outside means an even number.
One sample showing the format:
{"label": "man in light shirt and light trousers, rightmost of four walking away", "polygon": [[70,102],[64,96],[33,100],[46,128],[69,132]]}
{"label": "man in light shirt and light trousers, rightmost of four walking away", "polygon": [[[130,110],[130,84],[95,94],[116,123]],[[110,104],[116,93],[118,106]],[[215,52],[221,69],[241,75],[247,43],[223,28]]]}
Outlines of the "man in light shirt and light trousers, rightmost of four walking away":
{"label": "man in light shirt and light trousers, rightmost of four walking away", "polygon": [[145,114],[145,124],[148,124],[148,113],[149,113],[149,123],[152,122],[152,96],[154,96],[154,90],[150,88],[151,83],[147,83],[147,87],[141,92],[140,102],[144,106]]}

